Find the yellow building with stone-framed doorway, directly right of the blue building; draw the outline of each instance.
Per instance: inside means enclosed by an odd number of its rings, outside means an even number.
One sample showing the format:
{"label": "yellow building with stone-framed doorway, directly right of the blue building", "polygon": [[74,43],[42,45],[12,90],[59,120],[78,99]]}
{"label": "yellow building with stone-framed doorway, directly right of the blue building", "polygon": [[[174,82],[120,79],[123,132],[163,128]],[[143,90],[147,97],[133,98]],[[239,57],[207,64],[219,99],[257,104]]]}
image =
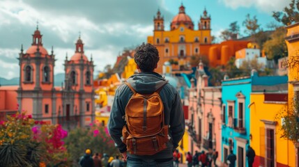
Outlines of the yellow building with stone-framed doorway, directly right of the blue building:
{"label": "yellow building with stone-framed doorway, directly right of the blue building", "polygon": [[282,137],[280,114],[287,107],[287,93],[252,93],[250,96],[250,145],[254,166],[296,166],[291,141]]}

